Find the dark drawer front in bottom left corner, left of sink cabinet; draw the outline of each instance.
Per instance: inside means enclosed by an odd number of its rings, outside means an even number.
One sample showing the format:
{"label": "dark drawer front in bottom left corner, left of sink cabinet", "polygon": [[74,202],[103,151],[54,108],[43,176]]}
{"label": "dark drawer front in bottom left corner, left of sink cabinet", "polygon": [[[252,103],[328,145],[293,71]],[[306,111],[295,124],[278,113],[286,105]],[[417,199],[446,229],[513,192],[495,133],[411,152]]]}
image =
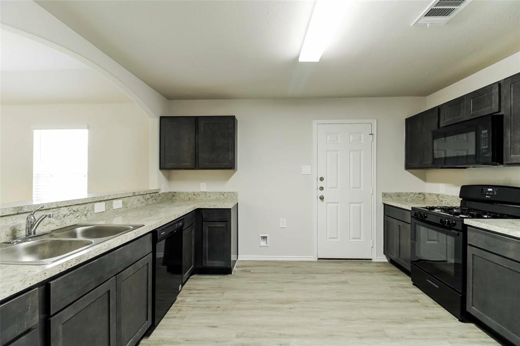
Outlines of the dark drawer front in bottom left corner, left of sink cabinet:
{"label": "dark drawer front in bottom left corner, left of sink cabinet", "polygon": [[36,326],[39,307],[37,288],[0,305],[0,344],[5,345]]}

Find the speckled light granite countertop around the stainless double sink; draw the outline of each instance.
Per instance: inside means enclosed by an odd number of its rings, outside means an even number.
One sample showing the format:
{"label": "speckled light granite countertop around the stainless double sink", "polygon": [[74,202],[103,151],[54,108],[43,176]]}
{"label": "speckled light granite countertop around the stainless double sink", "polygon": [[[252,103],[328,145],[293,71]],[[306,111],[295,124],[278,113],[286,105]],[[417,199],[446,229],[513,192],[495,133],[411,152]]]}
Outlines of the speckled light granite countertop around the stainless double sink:
{"label": "speckled light granite countertop around the stainless double sink", "polygon": [[115,247],[166,224],[198,208],[231,208],[236,198],[204,200],[172,200],[127,209],[106,219],[84,220],[82,223],[144,224],[143,227],[121,234],[88,249],[76,252],[67,259],[51,264],[0,264],[0,299],[7,298],[39,282],[59,274],[77,264],[103,254]]}

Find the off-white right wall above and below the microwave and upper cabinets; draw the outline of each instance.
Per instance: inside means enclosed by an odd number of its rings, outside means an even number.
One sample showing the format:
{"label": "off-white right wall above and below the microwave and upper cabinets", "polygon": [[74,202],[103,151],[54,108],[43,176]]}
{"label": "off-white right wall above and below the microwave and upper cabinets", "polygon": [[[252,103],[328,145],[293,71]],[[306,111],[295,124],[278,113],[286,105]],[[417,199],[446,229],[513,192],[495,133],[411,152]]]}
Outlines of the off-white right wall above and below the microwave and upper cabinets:
{"label": "off-white right wall above and below the microwave and upper cabinets", "polygon": [[[520,72],[520,52],[426,97],[426,109]],[[432,169],[426,171],[426,192],[458,195],[464,184],[520,187],[520,167]]]}

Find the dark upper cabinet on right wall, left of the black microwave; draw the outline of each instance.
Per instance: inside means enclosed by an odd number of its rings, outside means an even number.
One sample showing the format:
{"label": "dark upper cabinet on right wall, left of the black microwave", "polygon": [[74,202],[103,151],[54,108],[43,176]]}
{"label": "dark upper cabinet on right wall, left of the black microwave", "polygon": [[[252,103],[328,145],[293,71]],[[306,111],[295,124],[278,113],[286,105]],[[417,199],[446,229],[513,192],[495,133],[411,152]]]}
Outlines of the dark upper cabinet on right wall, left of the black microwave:
{"label": "dark upper cabinet on right wall, left of the black microwave", "polygon": [[405,168],[431,168],[432,130],[439,126],[439,108],[435,107],[406,119]]}

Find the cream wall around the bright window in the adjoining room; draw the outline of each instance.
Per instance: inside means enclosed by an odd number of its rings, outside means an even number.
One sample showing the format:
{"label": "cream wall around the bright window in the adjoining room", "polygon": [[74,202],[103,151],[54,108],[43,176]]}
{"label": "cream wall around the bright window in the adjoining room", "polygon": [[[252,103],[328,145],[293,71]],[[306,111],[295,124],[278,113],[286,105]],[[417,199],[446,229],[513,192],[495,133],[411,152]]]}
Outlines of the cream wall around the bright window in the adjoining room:
{"label": "cream wall around the bright window in the adjoining room", "polygon": [[136,104],[2,105],[0,110],[2,203],[32,199],[32,126],[88,126],[88,193],[148,189],[150,118]]}

